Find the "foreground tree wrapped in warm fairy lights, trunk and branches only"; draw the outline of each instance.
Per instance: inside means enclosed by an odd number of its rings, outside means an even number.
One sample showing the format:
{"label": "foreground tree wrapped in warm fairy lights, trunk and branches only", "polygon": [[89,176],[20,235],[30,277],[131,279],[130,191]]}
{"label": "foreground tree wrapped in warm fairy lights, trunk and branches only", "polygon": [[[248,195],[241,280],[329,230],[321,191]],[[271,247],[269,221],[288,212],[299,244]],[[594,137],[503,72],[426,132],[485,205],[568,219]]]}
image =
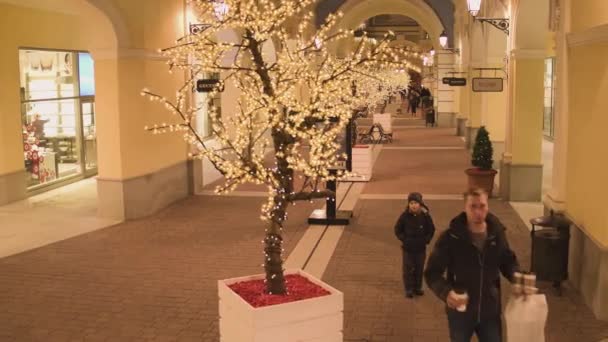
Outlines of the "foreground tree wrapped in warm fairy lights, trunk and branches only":
{"label": "foreground tree wrapped in warm fairy lights, trunk and branches only", "polygon": [[[354,49],[336,57],[331,46],[352,39],[352,31],[333,28],[338,15],[330,15],[320,28],[310,27],[313,0],[191,1],[199,30],[162,50],[171,69],[190,72],[191,78],[168,99],[147,89],[142,95],[164,104],[179,123],[146,127],[153,133],[178,132],[193,146],[191,158],[207,158],[223,174],[216,189],[227,193],[242,183],[264,184],[268,201],[261,218],[268,222],[264,238],[267,291],[284,294],[282,227],[290,203],[335,194],[319,187],[331,175],[330,167],[344,158],[337,155],[336,136],[345,129],[362,95],[352,94],[356,79],[377,78],[376,70],[407,69],[406,57],[417,53],[390,48],[391,34],[381,41],[364,38]],[[290,29],[292,23],[296,29]],[[237,41],[220,41],[218,33],[232,30]],[[312,32],[312,33],[311,33]],[[263,52],[273,44],[276,56]],[[227,65],[223,60],[231,56]],[[205,144],[193,119],[199,108],[188,103],[196,80],[221,73],[219,87],[232,82],[241,92],[238,110],[220,115],[210,108],[212,133],[221,147]],[[214,91],[218,91],[217,89]],[[212,92],[210,96],[213,96]],[[237,95],[235,95],[237,96]],[[265,162],[264,151],[274,149],[274,163]],[[304,185],[294,188],[294,178]]]}

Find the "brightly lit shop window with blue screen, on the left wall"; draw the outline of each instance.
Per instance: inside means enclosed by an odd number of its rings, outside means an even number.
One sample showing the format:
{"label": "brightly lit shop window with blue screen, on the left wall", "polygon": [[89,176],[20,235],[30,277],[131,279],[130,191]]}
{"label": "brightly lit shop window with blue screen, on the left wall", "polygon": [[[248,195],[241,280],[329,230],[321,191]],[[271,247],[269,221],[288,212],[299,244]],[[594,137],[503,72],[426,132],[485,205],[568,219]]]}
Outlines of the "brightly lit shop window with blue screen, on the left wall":
{"label": "brightly lit shop window with blue screen, on the left wall", "polygon": [[28,188],[96,173],[90,54],[21,49],[19,62]]}

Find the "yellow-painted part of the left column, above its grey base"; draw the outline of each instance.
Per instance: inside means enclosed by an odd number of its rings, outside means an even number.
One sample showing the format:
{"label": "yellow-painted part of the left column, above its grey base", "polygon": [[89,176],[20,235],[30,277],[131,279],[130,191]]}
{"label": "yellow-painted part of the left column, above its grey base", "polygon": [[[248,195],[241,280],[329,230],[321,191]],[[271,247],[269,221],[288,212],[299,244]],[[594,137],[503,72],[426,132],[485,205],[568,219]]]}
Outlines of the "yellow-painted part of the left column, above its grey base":
{"label": "yellow-painted part of the left column, above its grey base", "polygon": [[141,58],[102,60],[96,73],[100,178],[128,179],[185,160],[187,150],[180,134],[153,135],[144,130],[146,125],[177,123],[176,117],[139,95],[148,87],[174,99],[182,73],[169,74],[163,61]]}

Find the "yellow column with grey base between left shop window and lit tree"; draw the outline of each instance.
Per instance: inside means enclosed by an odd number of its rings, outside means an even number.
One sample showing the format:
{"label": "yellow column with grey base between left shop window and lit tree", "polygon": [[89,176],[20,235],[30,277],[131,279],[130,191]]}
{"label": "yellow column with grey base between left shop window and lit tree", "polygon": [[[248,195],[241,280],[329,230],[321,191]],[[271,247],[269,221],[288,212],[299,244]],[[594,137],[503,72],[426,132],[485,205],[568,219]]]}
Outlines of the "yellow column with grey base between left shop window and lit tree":
{"label": "yellow column with grey base between left shop window and lit tree", "polygon": [[99,175],[98,213],[132,219],[150,215],[191,192],[188,146],[181,134],[154,135],[145,126],[178,123],[160,103],[140,96],[143,88],[175,98],[183,72],[169,73],[156,49],[175,44],[185,32],[182,1],[156,0],[121,13],[129,23],[129,47],[93,50]]}

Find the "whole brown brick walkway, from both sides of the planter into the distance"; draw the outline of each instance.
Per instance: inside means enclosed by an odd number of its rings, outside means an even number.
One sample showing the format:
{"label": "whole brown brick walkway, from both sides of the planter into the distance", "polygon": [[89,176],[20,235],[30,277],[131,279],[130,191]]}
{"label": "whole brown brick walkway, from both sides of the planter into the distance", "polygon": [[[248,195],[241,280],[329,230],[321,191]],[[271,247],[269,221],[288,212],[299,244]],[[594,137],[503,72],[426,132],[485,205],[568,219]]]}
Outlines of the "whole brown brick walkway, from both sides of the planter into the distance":
{"label": "whole brown brick walkway, from both sides of the planter into the distance", "polygon": [[[345,341],[446,341],[442,304],[430,293],[403,296],[392,225],[405,193],[422,190],[444,228],[462,206],[458,175],[467,158],[453,130],[404,128],[395,138],[380,151],[361,195],[368,199],[357,202],[323,279],[345,293]],[[454,199],[431,199],[443,197]],[[261,272],[263,200],[192,197],[146,219],[0,259],[0,341],[218,341],[216,280]],[[290,208],[285,255],[321,205]],[[525,225],[508,203],[491,207],[525,265]],[[549,294],[549,341],[608,336],[608,324],[574,291],[565,293]]]}

